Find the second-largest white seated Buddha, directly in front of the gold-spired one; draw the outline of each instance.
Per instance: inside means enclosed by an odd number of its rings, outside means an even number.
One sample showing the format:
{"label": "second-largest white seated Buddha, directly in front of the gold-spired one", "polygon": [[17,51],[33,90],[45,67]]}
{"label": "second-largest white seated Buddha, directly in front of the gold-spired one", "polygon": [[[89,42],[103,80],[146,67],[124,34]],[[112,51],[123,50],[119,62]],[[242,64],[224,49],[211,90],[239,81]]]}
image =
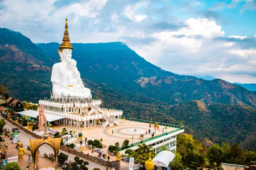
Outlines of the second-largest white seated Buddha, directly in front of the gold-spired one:
{"label": "second-largest white seated Buddha, directly in front of the gold-spired one", "polygon": [[[61,79],[61,86],[64,87],[63,96],[77,96],[75,93],[75,87],[74,87],[74,85],[76,84],[73,81],[75,71],[77,72],[76,60],[69,59],[67,61],[67,71],[64,71]],[[79,73],[79,78],[80,78],[80,73]]]}

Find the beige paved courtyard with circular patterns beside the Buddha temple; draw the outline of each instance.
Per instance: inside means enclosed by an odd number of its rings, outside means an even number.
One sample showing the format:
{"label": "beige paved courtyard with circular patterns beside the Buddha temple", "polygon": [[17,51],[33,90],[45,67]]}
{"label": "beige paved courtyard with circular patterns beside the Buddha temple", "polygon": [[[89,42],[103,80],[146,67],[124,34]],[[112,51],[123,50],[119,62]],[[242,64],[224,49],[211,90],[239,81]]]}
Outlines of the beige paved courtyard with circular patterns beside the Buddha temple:
{"label": "beige paved courtyard with circular patterns beside the Buddha temple", "polygon": [[[166,133],[166,130],[164,126],[160,126],[159,129],[154,130],[154,127],[149,128],[149,124],[142,123],[142,122],[134,122],[134,121],[128,121],[125,120],[123,122],[120,122],[120,125],[114,125],[113,127],[105,127],[102,128],[100,126],[98,127],[89,127],[89,128],[77,128],[77,127],[71,127],[66,125],[59,125],[59,126],[52,126],[52,128],[57,130],[62,130],[63,128],[67,129],[67,132],[70,130],[75,131],[76,135],[78,133],[82,133],[85,137],[87,137],[88,140],[92,139],[103,139],[103,144],[105,144],[107,147],[109,145],[114,145],[116,142],[119,142],[120,146],[124,142],[125,139],[128,139],[129,142],[132,142],[132,137],[134,137],[133,142],[140,141],[140,135],[144,135],[144,139],[148,139],[151,137],[151,134],[154,132],[155,136],[160,135],[162,133]],[[136,131],[134,131],[136,129]],[[151,130],[150,134],[148,133],[148,130]],[[168,127],[167,131],[175,130],[174,127]],[[113,134],[112,134],[113,130]],[[69,143],[75,143],[75,139],[69,139]],[[77,142],[79,144],[79,142]]]}

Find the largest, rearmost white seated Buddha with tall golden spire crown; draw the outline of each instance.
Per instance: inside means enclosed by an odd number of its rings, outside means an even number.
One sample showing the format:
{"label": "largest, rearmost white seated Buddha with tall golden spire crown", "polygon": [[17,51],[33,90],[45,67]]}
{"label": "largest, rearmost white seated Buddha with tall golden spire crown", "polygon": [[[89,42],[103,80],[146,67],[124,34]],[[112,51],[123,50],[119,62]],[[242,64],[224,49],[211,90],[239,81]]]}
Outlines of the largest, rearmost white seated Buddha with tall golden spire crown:
{"label": "largest, rearmost white seated Buddha with tall golden spire crown", "polygon": [[67,18],[66,18],[66,25],[65,25],[65,32],[63,37],[63,42],[59,47],[58,54],[60,56],[61,62],[58,62],[52,66],[52,94],[53,96],[62,96],[64,87],[61,86],[61,78],[63,73],[67,70],[67,61],[72,57],[72,45],[70,44],[70,39],[68,37],[67,31]]}

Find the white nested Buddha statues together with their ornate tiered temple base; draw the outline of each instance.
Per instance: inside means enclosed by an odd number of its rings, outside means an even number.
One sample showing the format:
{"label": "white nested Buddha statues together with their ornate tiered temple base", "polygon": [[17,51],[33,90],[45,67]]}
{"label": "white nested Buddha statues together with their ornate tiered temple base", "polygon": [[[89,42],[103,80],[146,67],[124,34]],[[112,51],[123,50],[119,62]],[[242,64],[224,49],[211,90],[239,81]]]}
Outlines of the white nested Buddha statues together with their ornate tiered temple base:
{"label": "white nested Buddha statues together with their ornate tiered temple base", "polygon": [[85,88],[72,58],[73,47],[67,30],[67,19],[63,42],[58,54],[60,61],[52,67],[52,95],[50,99],[39,100],[44,112],[62,116],[61,123],[76,127],[119,125],[123,111],[101,108],[101,100],[92,99],[89,88]]}

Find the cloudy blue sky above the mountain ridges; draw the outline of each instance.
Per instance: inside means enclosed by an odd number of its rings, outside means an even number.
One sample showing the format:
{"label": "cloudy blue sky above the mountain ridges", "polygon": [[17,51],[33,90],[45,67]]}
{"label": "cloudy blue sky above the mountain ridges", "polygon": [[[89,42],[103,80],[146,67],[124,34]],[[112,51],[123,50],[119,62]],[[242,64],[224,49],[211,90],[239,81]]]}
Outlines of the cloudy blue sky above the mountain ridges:
{"label": "cloudy blue sky above the mountain ridges", "polygon": [[255,0],[0,0],[0,27],[32,42],[61,42],[66,17],[71,42],[122,41],[177,74],[256,83]]}

